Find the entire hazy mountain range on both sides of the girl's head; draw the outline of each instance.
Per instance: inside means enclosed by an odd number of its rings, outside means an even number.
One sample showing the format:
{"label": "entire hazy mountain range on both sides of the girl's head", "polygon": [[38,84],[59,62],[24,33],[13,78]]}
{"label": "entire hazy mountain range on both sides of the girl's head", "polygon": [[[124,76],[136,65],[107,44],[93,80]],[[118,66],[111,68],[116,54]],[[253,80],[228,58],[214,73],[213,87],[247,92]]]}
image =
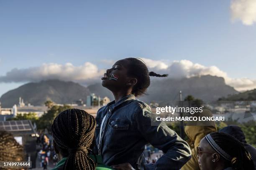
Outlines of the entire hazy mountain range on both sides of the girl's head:
{"label": "entire hazy mountain range on both sides of the girl's head", "polygon": [[[191,77],[182,79],[170,79],[156,77],[151,81],[147,94],[139,97],[139,100],[150,103],[152,101],[166,104],[179,100],[179,91],[182,90],[183,98],[193,95],[195,98],[204,101],[216,101],[220,97],[234,95],[238,92],[225,84],[222,77],[205,75],[201,77]],[[64,82],[60,80],[45,80],[41,82],[31,82],[10,90],[1,96],[2,107],[12,107],[18,104],[19,97],[24,102],[32,105],[44,105],[46,100],[56,103],[72,103],[82,99],[86,101],[87,95],[95,93],[100,97],[109,97],[114,100],[112,93],[102,87],[101,83],[84,87],[74,82]]]}

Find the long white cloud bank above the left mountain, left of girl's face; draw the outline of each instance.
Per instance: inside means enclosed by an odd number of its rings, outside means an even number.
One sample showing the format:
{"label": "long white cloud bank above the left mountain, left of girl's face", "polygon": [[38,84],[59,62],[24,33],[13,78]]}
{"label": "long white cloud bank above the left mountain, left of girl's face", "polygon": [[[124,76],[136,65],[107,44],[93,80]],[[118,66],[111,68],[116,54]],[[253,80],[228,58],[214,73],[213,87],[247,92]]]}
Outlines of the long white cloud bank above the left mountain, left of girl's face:
{"label": "long white cloud bank above the left mountain, left of girl's face", "polygon": [[71,63],[60,65],[56,63],[43,64],[40,67],[26,69],[13,69],[0,76],[0,82],[34,82],[40,80],[59,79],[76,82],[93,82],[104,74],[96,65],[85,62],[81,66],[74,66]]}

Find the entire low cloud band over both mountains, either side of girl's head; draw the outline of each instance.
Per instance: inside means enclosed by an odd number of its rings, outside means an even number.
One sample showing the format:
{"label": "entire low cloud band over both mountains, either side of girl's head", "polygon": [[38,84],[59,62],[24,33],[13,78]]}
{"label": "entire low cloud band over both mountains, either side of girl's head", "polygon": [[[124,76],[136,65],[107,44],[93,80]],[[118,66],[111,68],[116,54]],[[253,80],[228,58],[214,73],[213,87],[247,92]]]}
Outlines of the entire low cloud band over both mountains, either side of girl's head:
{"label": "entire low cloud band over both mountains, either side of girl's head", "polygon": [[[193,63],[189,60],[163,61],[141,58],[148,66],[149,71],[159,74],[169,74],[169,78],[194,77],[201,75],[212,75],[223,77],[226,84],[238,91],[251,90],[256,88],[256,80],[248,78],[230,78],[228,74],[216,66],[204,66]],[[114,61],[102,61],[106,64],[113,64]],[[43,64],[40,67],[26,69],[13,69],[0,76],[0,82],[35,82],[40,80],[59,79],[65,81],[79,82],[89,85],[100,82],[100,77],[105,70],[98,69],[97,65],[85,62],[83,65],[74,66],[71,63],[60,65],[56,63]]]}

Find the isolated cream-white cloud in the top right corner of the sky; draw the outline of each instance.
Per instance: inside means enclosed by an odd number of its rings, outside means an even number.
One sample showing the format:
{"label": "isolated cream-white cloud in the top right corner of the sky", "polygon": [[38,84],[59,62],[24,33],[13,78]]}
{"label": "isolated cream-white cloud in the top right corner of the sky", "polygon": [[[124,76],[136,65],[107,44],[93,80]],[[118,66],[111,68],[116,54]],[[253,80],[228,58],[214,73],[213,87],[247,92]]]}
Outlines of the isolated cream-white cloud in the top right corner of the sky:
{"label": "isolated cream-white cloud in the top right corner of the sky", "polygon": [[256,0],[231,0],[232,20],[241,20],[244,25],[256,22]]}

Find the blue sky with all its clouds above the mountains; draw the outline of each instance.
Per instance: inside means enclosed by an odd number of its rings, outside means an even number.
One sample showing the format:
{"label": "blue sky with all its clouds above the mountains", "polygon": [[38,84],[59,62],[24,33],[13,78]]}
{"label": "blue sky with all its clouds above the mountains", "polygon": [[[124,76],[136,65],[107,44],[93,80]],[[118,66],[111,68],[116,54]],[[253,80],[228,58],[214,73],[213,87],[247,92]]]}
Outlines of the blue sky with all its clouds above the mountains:
{"label": "blue sky with all its clouds above the mountains", "polygon": [[256,88],[256,1],[0,0],[0,96],[53,78],[100,82],[125,57]]}

